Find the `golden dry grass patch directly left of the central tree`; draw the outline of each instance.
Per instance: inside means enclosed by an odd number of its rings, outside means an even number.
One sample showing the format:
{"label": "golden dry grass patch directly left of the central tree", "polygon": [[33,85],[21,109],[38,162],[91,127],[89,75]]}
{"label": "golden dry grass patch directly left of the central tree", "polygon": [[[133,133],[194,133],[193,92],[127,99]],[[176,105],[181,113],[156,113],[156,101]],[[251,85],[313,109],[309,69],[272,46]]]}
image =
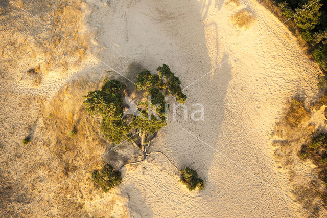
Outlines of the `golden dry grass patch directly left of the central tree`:
{"label": "golden dry grass patch directly left of the central tree", "polygon": [[[90,116],[83,107],[82,96],[97,84],[77,79],[64,88],[43,108],[44,126],[51,149],[62,159],[63,175],[69,176],[77,168],[103,154],[106,141],[99,131],[99,119]],[[75,137],[69,132],[74,129]],[[73,158],[75,157],[75,158]],[[81,160],[82,159],[82,160]]]}

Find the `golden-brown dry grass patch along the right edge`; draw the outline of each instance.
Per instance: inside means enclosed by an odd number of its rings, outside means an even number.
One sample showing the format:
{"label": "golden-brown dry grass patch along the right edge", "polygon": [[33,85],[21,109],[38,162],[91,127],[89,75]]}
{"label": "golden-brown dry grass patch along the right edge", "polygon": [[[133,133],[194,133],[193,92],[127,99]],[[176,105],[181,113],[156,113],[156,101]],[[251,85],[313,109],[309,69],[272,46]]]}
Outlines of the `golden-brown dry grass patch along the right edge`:
{"label": "golden-brown dry grass patch along the right edge", "polygon": [[[327,208],[327,164],[322,162],[326,151],[324,147],[311,148],[309,144],[326,130],[322,116],[325,112],[321,108],[327,105],[326,99],[323,95],[311,105],[310,108],[319,110],[311,112],[306,110],[303,101],[293,99],[272,134],[276,163],[287,170],[295,199],[317,216]],[[321,120],[318,121],[317,117]]]}

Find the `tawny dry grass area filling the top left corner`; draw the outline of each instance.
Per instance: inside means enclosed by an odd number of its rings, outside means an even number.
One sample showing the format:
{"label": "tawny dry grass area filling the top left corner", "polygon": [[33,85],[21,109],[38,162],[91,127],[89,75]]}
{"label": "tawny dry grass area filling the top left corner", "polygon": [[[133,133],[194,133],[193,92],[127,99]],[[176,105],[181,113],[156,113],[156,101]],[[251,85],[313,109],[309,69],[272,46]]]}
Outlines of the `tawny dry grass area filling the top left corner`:
{"label": "tawny dry grass area filling the top left corner", "polygon": [[[33,4],[27,0],[16,2],[19,7],[40,18],[45,24],[89,49],[89,33],[85,23],[85,3],[73,0],[41,1]],[[2,4],[2,3],[1,3]],[[0,72],[19,69],[27,63],[28,69],[39,66],[31,85],[41,83],[48,72],[67,72],[79,66],[87,55],[72,42],[25,14],[12,4],[0,4]],[[28,70],[22,69],[23,75]],[[28,81],[29,77],[24,77]]]}

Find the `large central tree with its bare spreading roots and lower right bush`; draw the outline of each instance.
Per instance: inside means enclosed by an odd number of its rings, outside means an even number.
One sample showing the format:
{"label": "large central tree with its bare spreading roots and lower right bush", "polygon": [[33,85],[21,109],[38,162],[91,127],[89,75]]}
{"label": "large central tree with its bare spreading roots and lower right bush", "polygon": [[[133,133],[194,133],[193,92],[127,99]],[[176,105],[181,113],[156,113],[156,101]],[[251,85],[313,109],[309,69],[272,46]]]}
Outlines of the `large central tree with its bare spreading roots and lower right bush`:
{"label": "large central tree with its bare spreading roots and lower right bush", "polygon": [[[167,125],[169,104],[165,97],[171,95],[180,104],[184,104],[187,98],[180,88],[179,78],[166,64],[158,67],[157,71],[158,74],[151,74],[148,70],[138,73],[133,93],[134,100],[137,100],[134,110],[127,103],[131,99],[127,96],[126,85],[118,80],[105,80],[100,90],[84,96],[85,110],[102,118],[100,129],[104,138],[117,145],[129,141],[141,151],[138,160],[123,164],[121,169],[141,163],[149,155],[162,154],[179,171],[164,152],[149,152],[157,132]],[[189,190],[204,188],[204,182],[197,178],[196,171],[187,168],[181,173],[184,175],[182,181],[188,184]]]}

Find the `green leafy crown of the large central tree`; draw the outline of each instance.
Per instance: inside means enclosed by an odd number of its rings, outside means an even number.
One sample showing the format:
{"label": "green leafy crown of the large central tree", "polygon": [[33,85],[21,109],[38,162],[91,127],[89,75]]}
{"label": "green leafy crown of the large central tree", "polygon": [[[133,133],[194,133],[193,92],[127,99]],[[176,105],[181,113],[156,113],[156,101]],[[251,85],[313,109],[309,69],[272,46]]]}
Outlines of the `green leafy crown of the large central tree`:
{"label": "green leafy crown of the large central tree", "polygon": [[167,125],[166,95],[171,94],[177,101],[185,102],[186,95],[181,91],[178,77],[174,76],[166,64],[158,70],[159,75],[151,75],[150,71],[142,71],[137,75],[136,88],[145,90],[141,96],[143,100],[137,104],[138,116],[123,117],[122,90],[126,86],[117,80],[105,80],[101,90],[89,92],[84,96],[85,110],[102,117],[100,129],[106,139],[119,144],[132,137],[133,133],[142,131],[129,141],[136,141],[142,135],[144,142],[145,136],[154,134]]}

